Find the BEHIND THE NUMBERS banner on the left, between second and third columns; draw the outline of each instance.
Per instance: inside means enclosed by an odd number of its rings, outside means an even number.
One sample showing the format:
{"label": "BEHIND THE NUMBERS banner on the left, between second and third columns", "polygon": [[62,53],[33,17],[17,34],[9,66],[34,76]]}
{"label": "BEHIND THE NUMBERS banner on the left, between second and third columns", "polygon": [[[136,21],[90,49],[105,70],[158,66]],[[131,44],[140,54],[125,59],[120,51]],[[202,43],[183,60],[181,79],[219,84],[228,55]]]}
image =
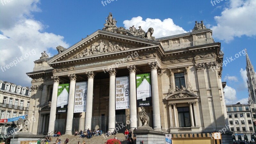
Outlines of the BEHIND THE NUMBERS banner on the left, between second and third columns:
{"label": "BEHIND THE NUMBERS banner on the left, between second and third columns", "polygon": [[76,83],[74,113],[86,112],[87,82]]}

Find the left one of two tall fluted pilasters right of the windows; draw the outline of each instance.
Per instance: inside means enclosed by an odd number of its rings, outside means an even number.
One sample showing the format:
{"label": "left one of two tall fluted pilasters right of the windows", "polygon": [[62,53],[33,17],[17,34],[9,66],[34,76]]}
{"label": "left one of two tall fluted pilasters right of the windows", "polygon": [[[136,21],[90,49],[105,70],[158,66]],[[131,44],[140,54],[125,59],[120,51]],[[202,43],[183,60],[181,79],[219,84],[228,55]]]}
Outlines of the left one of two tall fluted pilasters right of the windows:
{"label": "left one of two tall fluted pilasters right of the windows", "polygon": [[207,96],[205,77],[204,77],[204,63],[196,64],[196,72],[197,72],[197,78],[198,78],[200,99],[202,104],[204,127],[212,128],[208,96]]}

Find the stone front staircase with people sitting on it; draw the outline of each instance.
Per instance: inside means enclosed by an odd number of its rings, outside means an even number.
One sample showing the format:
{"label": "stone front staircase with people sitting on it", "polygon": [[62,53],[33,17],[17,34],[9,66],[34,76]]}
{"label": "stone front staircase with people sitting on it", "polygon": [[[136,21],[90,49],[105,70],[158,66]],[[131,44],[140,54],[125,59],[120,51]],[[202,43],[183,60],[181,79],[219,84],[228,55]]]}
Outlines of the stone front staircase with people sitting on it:
{"label": "stone front staircase with people sitting on it", "polygon": [[[124,135],[123,133],[117,133],[116,137],[118,140],[121,141],[121,144],[127,144],[127,140],[125,140],[126,135]],[[74,137],[74,135],[64,134],[59,137],[62,144],[65,142],[66,138],[69,139],[68,144],[77,144],[78,141],[80,141],[80,144],[82,144],[83,140],[85,141],[86,144],[104,144],[108,139],[114,139],[114,135],[107,137],[105,134],[101,134],[101,136],[92,136],[91,139],[87,139],[87,138],[83,139],[83,138],[79,138],[79,136]],[[55,144],[57,137],[54,138],[51,136],[51,139],[52,141],[49,142],[49,144]],[[42,140],[41,144],[43,144],[43,142],[44,142],[44,139]]]}

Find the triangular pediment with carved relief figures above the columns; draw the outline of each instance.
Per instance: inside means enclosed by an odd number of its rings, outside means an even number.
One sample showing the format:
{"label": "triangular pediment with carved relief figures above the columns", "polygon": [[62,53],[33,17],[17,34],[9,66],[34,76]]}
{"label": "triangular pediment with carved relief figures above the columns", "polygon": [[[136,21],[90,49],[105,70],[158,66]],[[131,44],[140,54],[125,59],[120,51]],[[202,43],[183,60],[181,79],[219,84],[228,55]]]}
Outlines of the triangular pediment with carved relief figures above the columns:
{"label": "triangular pediment with carved relief figures above the columns", "polygon": [[63,52],[55,55],[48,60],[47,63],[51,64],[59,61],[100,56],[114,52],[125,52],[131,49],[158,44],[158,42],[153,40],[98,30]]}

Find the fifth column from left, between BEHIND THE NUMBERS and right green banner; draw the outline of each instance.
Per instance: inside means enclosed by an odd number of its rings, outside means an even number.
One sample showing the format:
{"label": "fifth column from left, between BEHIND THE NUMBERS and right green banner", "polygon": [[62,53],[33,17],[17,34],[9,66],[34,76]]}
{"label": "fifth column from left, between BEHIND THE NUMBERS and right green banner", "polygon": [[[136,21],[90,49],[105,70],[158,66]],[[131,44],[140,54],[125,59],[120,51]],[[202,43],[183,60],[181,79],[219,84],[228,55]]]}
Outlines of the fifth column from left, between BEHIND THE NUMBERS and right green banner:
{"label": "fifth column from left, between BEHIND THE NUMBERS and right green banner", "polygon": [[127,67],[130,72],[129,88],[130,88],[130,130],[137,128],[137,106],[136,106],[136,66]]}

